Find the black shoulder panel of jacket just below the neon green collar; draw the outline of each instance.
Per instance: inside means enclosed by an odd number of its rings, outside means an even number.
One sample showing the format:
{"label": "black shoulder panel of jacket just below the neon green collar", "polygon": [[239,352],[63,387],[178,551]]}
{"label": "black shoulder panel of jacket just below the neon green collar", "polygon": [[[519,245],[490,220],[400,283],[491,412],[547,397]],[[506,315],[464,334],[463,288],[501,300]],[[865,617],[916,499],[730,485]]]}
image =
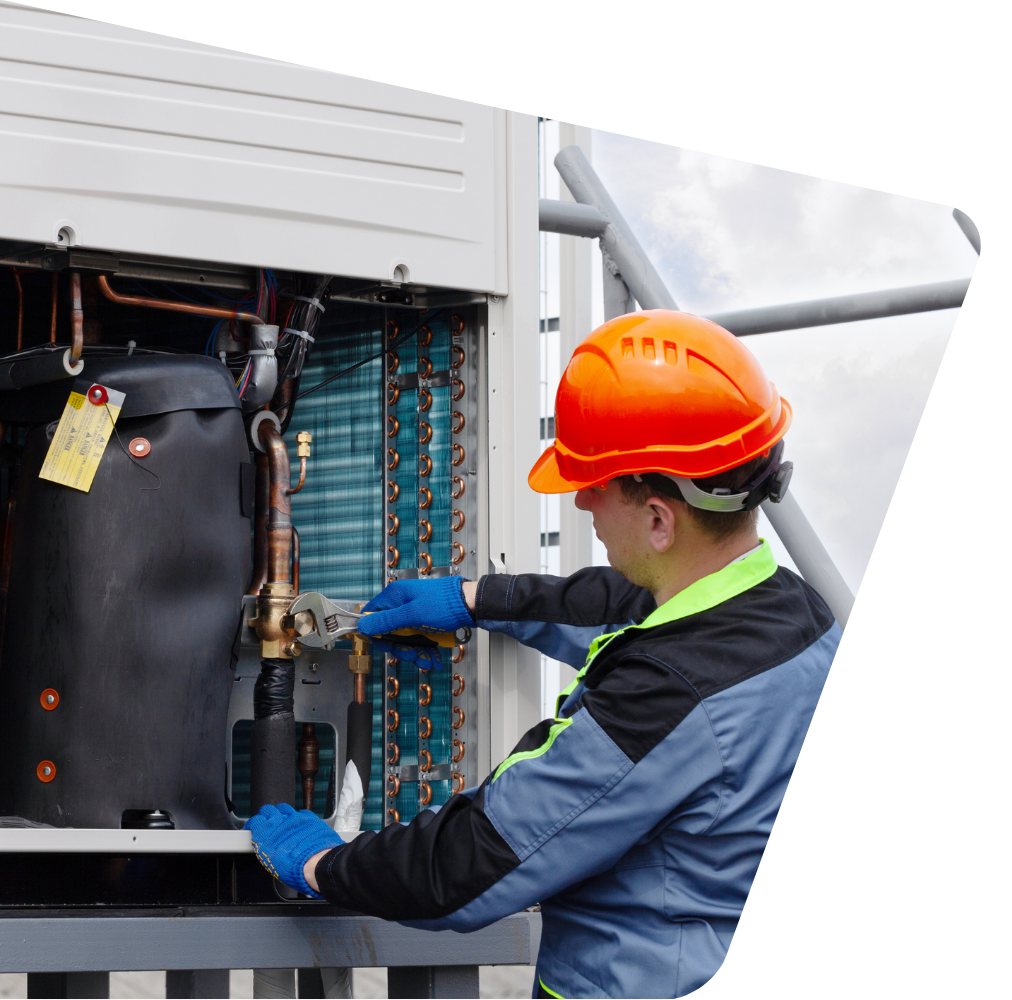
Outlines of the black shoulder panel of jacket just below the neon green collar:
{"label": "black shoulder panel of jacket just below the neon green collar", "polygon": [[793,659],[833,620],[822,597],[780,568],[716,607],[612,640],[572,711],[584,706],[639,761],[701,699]]}

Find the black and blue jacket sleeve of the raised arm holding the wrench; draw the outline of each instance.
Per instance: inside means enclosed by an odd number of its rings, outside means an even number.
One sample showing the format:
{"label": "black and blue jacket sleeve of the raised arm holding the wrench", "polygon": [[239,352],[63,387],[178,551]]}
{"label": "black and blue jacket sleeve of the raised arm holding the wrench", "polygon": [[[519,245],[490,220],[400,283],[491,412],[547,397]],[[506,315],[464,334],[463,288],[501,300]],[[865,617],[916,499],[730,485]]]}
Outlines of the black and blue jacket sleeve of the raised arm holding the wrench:
{"label": "black and blue jacket sleeve of the raised arm holding the wrench", "polygon": [[594,566],[569,577],[523,573],[479,581],[475,619],[578,669],[598,636],[642,621],[656,607],[651,593],[620,573]]}

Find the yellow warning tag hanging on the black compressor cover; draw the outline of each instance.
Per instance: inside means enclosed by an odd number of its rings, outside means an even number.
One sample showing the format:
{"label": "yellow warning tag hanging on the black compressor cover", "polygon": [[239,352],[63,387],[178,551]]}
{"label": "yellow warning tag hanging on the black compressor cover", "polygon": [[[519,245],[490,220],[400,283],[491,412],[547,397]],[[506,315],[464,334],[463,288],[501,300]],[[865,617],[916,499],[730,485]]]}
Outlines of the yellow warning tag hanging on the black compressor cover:
{"label": "yellow warning tag hanging on the black compressor cover", "polygon": [[87,493],[124,399],[125,393],[78,379],[38,478]]}

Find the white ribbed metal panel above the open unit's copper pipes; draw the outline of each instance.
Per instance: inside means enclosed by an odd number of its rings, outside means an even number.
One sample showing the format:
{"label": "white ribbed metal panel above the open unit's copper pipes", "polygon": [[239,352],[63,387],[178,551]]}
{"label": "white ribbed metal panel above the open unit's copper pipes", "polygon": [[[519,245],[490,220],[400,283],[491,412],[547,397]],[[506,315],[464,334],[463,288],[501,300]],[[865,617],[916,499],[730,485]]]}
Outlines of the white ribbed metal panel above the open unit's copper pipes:
{"label": "white ribbed metal panel above the open unit's copper pipes", "polygon": [[[497,117],[498,115],[498,117]],[[0,236],[505,294],[496,109],[0,2]]]}

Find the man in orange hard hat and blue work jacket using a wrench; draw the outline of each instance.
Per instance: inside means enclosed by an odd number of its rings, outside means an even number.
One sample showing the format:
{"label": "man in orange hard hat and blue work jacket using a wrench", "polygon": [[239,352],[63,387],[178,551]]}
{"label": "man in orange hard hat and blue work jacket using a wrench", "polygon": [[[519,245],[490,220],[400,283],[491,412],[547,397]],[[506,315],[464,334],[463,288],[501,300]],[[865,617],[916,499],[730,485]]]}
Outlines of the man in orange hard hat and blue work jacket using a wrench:
{"label": "man in orange hard hat and blue work jacket using a wrench", "polygon": [[343,845],[315,817],[250,821],[282,881],[419,926],[473,930],[534,903],[535,996],[670,1000],[737,926],[840,642],[756,533],[790,409],[712,323],[622,316],[576,350],[557,440],[530,473],[577,491],[611,569],[401,581],[362,631],[465,623],[582,669],[557,717],[477,788]]}

